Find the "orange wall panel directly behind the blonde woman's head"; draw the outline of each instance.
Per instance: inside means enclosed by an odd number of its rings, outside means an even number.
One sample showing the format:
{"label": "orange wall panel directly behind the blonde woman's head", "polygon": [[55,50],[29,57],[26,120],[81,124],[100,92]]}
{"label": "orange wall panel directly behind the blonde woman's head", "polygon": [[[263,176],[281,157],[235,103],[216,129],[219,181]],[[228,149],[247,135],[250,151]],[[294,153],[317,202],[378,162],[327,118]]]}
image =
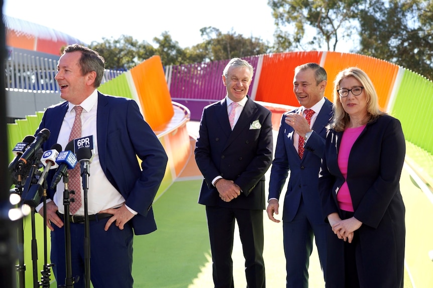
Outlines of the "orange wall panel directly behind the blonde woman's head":
{"label": "orange wall panel directly behind the blonde woman's head", "polygon": [[379,106],[383,111],[386,110],[398,73],[397,65],[360,54],[327,52],[323,67],[328,73],[325,91],[328,99],[333,100],[334,80],[337,74],[348,67],[358,67],[370,77],[379,96]]}

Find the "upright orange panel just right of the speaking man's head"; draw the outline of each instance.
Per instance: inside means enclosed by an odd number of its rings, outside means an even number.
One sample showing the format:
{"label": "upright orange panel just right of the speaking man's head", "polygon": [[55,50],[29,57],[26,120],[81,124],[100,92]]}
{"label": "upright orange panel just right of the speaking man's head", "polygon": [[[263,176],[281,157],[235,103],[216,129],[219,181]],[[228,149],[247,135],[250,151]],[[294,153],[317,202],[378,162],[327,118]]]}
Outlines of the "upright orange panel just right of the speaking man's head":
{"label": "upright orange panel just right of the speaking man's head", "polygon": [[170,121],[174,115],[170,92],[159,56],[153,56],[131,69],[144,118],[152,129]]}

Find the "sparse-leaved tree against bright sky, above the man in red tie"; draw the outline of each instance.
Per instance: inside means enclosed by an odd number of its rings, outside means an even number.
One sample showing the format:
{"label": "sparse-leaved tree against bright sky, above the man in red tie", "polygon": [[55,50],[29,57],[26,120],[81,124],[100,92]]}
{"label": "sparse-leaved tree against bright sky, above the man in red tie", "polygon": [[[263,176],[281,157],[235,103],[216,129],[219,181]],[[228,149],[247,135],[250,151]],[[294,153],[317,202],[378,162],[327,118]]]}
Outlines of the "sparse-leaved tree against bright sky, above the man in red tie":
{"label": "sparse-leaved tree against bright sky, above the man in red tie", "polygon": [[359,9],[366,0],[269,0],[276,30],[274,49],[316,50],[326,46],[336,51],[337,43],[356,35]]}

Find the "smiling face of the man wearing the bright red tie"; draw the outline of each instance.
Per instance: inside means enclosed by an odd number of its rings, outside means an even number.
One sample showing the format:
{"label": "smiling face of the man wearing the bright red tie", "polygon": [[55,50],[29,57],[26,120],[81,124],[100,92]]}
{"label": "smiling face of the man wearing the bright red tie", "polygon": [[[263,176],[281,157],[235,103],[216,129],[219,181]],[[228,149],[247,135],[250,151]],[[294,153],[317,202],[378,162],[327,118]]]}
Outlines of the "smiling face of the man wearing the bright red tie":
{"label": "smiling face of the man wearing the bright red tie", "polygon": [[293,93],[299,104],[309,109],[323,98],[327,82],[322,81],[318,85],[314,77],[313,69],[298,71],[293,78]]}

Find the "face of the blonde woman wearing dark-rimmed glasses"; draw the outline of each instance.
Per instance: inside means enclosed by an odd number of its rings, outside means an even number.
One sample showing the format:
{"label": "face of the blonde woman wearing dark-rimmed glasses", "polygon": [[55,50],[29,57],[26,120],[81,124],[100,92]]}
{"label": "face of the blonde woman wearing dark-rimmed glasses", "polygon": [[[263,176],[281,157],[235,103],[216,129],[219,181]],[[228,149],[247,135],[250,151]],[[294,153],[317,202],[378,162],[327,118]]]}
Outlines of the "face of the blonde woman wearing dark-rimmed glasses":
{"label": "face of the blonde woman wearing dark-rimmed glasses", "polygon": [[[363,87],[355,77],[346,77],[340,81],[339,89],[352,89],[354,87]],[[362,90],[361,94],[354,96],[352,92],[349,92],[347,97],[341,97],[340,101],[344,111],[349,114],[351,121],[362,120],[367,116],[367,96],[365,89]]]}

